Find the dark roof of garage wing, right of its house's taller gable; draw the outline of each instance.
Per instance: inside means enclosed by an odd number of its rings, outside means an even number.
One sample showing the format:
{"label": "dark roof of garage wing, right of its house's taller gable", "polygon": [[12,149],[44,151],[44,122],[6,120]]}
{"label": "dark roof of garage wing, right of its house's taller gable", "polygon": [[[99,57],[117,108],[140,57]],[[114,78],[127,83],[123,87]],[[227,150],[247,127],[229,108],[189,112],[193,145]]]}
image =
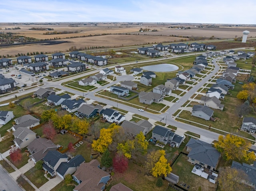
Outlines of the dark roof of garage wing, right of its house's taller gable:
{"label": "dark roof of garage wing, right of its house's taller gable", "polygon": [[82,155],[77,155],[74,158],[70,159],[68,162],[62,162],[56,171],[60,175],[64,176],[69,168],[78,167],[82,162],[84,162],[84,158],[82,157]]}

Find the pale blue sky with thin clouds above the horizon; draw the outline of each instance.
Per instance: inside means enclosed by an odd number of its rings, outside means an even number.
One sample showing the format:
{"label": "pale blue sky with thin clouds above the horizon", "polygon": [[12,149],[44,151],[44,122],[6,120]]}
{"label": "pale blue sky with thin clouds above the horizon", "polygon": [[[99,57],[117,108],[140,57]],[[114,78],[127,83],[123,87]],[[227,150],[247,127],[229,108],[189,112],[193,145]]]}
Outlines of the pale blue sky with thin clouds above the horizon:
{"label": "pale blue sky with thin clouds above the horizon", "polygon": [[256,0],[1,0],[0,22],[256,24],[255,8]]}

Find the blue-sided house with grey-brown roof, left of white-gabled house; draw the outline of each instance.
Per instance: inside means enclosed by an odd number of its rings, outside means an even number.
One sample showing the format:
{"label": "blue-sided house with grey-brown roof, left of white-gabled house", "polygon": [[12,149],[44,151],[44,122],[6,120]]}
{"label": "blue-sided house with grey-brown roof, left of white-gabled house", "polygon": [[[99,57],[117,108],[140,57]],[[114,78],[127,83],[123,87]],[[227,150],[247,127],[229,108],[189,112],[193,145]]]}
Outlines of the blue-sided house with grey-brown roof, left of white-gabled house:
{"label": "blue-sided house with grey-brown roof, left of white-gabled house", "polygon": [[79,118],[91,118],[96,116],[97,114],[102,114],[104,109],[101,105],[92,105],[92,104],[82,104],[80,108],[78,108],[75,115]]}

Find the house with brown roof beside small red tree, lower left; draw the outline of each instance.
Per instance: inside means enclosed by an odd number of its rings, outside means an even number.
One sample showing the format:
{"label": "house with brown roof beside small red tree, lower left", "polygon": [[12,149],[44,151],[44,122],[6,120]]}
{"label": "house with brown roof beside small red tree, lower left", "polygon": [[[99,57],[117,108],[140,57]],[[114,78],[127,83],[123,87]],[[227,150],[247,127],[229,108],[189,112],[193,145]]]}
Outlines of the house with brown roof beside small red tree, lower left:
{"label": "house with brown roof beside small red tree, lower left", "polygon": [[29,157],[36,163],[42,160],[48,151],[57,150],[58,146],[46,138],[36,138],[27,146],[27,149],[30,152]]}

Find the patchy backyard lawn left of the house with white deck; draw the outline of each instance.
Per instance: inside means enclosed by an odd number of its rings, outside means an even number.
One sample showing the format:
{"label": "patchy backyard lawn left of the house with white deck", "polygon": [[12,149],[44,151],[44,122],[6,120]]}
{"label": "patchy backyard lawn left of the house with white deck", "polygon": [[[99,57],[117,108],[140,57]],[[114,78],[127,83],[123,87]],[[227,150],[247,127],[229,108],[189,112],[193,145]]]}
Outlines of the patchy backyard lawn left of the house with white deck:
{"label": "patchy backyard lawn left of the house with white deck", "polygon": [[184,182],[186,185],[190,185],[190,190],[197,191],[199,187],[204,191],[215,191],[218,184],[213,184],[194,173],[192,169],[194,165],[187,161],[188,157],[184,154],[180,154],[176,161],[172,164],[172,173],[178,175],[179,183]]}

